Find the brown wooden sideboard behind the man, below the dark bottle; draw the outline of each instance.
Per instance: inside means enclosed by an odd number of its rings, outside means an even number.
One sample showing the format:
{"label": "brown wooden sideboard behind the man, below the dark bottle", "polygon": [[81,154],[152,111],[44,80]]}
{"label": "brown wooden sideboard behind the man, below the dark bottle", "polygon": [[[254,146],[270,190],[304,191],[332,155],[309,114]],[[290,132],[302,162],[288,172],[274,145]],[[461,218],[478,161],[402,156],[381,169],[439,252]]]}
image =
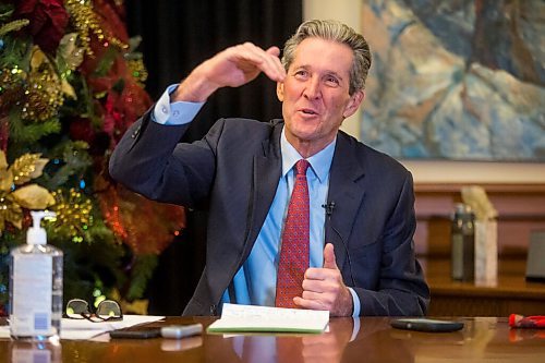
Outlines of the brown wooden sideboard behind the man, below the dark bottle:
{"label": "brown wooden sideboard behind the man, below the dark bottle", "polygon": [[545,283],[525,281],[525,261],[500,261],[492,286],[452,281],[449,259],[427,259],[423,266],[432,291],[428,315],[545,315]]}

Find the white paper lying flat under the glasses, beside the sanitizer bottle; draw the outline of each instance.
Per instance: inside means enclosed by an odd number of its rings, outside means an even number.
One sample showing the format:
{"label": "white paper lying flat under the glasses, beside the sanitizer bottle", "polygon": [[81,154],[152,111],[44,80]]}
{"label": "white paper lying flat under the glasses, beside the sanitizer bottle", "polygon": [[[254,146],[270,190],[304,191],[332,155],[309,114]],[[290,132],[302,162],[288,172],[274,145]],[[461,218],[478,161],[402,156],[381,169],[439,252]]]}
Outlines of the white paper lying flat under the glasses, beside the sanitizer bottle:
{"label": "white paper lying flat under the glasses, beside the sanitizer bottle", "polygon": [[[153,323],[165,318],[165,316],[152,315],[123,315],[119,322],[93,323],[87,319],[63,318],[61,322],[61,339],[68,340],[87,340],[102,332],[128,328],[138,324]],[[10,338],[10,327],[0,326],[0,338]]]}

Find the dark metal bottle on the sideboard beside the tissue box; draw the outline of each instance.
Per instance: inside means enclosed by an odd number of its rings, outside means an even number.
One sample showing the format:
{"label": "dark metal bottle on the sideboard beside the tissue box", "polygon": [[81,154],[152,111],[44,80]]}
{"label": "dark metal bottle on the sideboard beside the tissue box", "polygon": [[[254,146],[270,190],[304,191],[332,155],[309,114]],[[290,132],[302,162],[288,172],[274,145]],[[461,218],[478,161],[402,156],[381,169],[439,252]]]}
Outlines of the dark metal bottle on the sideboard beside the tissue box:
{"label": "dark metal bottle on the sideboard beside the tissue box", "polygon": [[458,281],[475,278],[475,215],[470,206],[457,204],[450,230],[451,274]]}

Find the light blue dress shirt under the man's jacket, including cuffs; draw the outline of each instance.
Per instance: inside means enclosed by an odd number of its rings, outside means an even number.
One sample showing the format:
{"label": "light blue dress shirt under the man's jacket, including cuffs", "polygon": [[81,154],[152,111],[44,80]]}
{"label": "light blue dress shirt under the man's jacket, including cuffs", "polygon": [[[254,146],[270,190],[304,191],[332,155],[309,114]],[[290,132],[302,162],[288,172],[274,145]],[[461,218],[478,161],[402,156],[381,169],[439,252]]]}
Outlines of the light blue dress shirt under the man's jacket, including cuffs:
{"label": "light blue dress shirt under the man's jacket, including cuffs", "polygon": [[[204,102],[170,104],[170,93],[177,85],[171,85],[157,101],[153,120],[161,124],[185,124],[191,122]],[[324,265],[325,208],[329,190],[329,168],[335,153],[336,141],[307,159],[311,168],[306,171],[310,198],[310,267]],[[246,305],[275,306],[276,277],[279,259],[279,247],[283,221],[288,213],[291,192],[294,183],[293,166],[303,157],[286,138],[284,130],[280,137],[282,156],[282,173],[272,204],[270,205],[257,240],[233,278],[232,290],[225,291],[221,303],[233,302]],[[272,277],[272,278],[271,278]],[[353,300],[352,316],[360,315],[360,299],[349,288]],[[234,300],[234,301],[231,301]]]}

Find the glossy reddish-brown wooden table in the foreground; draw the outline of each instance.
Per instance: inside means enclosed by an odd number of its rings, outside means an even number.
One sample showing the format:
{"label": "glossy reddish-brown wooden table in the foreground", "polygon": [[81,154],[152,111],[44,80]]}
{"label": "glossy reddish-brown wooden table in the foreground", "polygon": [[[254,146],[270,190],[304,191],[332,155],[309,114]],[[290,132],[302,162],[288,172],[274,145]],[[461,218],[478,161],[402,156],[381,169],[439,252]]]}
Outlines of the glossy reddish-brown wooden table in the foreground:
{"label": "glossy reddish-brown wooden table in the foreground", "polygon": [[[545,362],[545,330],[510,330],[506,318],[459,318],[457,332],[390,328],[390,318],[332,318],[322,335],[204,335],[184,340],[62,340],[50,362]],[[210,324],[213,318],[169,317],[166,324]],[[358,325],[358,324],[356,324]],[[10,362],[25,343],[0,339],[0,361]],[[19,350],[19,351],[17,351]],[[33,362],[32,360],[25,362]]]}

